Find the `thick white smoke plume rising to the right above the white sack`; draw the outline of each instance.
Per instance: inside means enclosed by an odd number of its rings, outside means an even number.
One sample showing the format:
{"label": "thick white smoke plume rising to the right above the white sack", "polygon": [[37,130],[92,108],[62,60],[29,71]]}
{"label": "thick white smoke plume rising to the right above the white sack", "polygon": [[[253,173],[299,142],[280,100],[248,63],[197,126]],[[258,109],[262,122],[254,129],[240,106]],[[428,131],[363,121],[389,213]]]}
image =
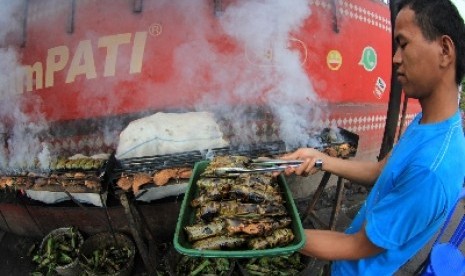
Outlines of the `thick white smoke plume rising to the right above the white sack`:
{"label": "thick white smoke plume rising to the right above the white sack", "polygon": [[[317,122],[322,116],[322,103],[303,68],[300,53],[289,46],[292,34],[310,15],[307,0],[237,1],[218,18],[226,35],[241,47],[236,55],[223,55],[202,40],[177,50],[186,57],[187,51],[194,49],[197,59],[193,64],[209,67],[209,81],[216,84],[210,89],[217,89],[215,93],[221,97],[204,96],[197,107],[221,113],[236,134],[234,143],[247,143],[256,136],[257,130],[244,116],[253,109],[247,104],[250,102],[261,102],[271,110],[279,138],[290,147],[307,145],[311,134],[320,131]],[[200,68],[196,66],[184,66],[182,76],[198,79],[195,72]],[[231,102],[236,104],[227,104]]]}

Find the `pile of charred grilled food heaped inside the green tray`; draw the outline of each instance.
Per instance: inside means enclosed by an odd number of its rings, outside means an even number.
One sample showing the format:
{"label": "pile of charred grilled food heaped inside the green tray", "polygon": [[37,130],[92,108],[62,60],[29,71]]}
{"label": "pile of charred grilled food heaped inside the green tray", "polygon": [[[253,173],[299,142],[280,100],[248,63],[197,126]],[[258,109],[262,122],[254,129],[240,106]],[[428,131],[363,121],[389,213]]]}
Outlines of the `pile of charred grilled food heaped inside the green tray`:
{"label": "pile of charred grilled food heaped inside the green tray", "polygon": [[191,201],[195,221],[184,230],[199,250],[266,249],[294,239],[291,218],[276,178],[270,173],[214,177],[219,167],[247,168],[244,156],[214,158],[200,175],[198,195]]}

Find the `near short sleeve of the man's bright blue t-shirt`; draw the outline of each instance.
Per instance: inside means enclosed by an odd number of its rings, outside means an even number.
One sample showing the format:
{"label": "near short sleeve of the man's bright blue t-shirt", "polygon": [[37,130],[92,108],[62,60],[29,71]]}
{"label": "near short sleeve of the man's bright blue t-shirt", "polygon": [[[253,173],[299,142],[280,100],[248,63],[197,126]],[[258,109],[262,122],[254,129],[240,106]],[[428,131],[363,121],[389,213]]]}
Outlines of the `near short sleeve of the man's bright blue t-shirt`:
{"label": "near short sleeve of the man's bright blue t-shirt", "polygon": [[437,227],[446,210],[443,184],[434,172],[411,167],[398,176],[392,190],[368,212],[365,230],[371,242],[393,249],[426,228]]}

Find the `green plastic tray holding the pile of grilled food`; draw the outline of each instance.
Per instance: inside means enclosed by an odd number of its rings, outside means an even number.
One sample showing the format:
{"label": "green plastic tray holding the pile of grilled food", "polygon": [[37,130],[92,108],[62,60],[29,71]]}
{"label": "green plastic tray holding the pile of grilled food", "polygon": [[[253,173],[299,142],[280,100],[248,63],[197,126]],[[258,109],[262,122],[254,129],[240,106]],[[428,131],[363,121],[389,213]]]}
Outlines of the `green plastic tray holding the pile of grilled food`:
{"label": "green plastic tray holding the pile of grilled food", "polygon": [[208,166],[209,161],[197,162],[194,166],[194,171],[189,181],[186,194],[184,196],[181,210],[179,212],[178,221],[176,224],[176,231],[174,233],[174,248],[181,254],[188,256],[198,257],[222,257],[222,258],[251,258],[260,256],[277,256],[293,253],[301,249],[305,244],[305,234],[302,227],[302,222],[299,217],[299,213],[292,198],[291,191],[289,190],[287,183],[282,175],[278,177],[278,184],[281,192],[283,193],[286,209],[289,216],[292,219],[291,229],[294,233],[294,240],[292,243],[283,246],[270,249],[259,249],[259,250],[198,250],[192,248],[191,242],[187,239],[187,235],[184,231],[184,227],[191,225],[195,217],[195,209],[191,207],[190,202],[197,196],[197,180],[200,178],[200,174]]}

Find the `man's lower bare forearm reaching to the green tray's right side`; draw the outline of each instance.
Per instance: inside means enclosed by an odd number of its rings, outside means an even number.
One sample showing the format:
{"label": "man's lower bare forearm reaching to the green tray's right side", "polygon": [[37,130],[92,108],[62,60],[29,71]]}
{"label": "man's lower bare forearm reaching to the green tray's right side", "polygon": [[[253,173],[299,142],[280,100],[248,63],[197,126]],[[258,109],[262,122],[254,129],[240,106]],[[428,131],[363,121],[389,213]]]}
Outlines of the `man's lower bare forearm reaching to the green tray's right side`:
{"label": "man's lower bare forearm reaching to the green tray's right side", "polygon": [[307,241],[300,252],[321,260],[358,260],[384,251],[373,244],[365,227],[355,234],[329,230],[305,230]]}

